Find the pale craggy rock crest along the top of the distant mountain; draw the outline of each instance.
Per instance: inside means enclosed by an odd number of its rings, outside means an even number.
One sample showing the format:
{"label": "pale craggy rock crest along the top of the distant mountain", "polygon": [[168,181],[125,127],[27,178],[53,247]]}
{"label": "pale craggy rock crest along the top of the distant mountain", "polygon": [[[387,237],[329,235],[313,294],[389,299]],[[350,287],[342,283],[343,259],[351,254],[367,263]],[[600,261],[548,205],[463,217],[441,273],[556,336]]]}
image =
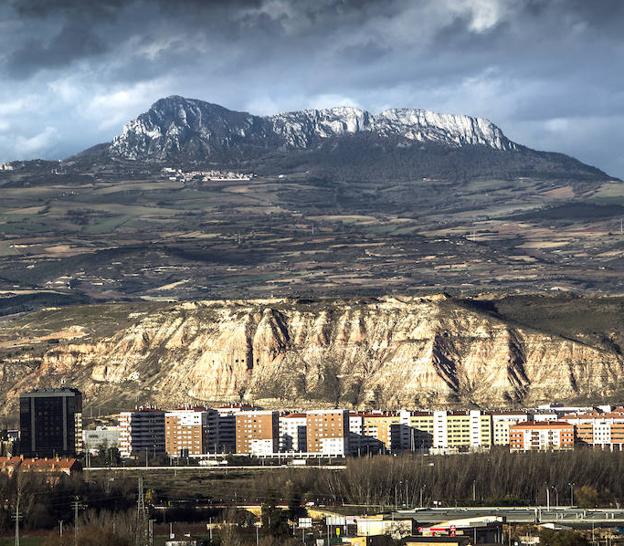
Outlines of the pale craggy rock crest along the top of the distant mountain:
{"label": "pale craggy rock crest along the top of the distant mountain", "polygon": [[373,114],[354,106],[255,116],[177,95],[159,99],[129,121],[110,152],[125,159],[166,159],[179,153],[208,157],[231,150],[308,149],[344,135],[371,134],[449,147],[516,150],[492,122],[458,114],[391,108]]}

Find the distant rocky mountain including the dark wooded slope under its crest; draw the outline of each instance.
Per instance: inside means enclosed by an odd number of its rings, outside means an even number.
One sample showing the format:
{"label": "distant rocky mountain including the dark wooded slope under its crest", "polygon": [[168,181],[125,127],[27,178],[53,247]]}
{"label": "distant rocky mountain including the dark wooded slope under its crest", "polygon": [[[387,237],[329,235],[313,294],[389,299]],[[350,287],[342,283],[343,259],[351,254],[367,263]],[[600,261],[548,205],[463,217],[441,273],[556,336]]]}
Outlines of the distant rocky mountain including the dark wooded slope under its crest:
{"label": "distant rocky mountain including the dark wooded slope under its crest", "polygon": [[516,144],[482,118],[353,107],[255,116],[178,96],[128,122],[108,153],[134,162],[247,164],[264,173],[298,167],[358,178],[609,178],[573,158]]}

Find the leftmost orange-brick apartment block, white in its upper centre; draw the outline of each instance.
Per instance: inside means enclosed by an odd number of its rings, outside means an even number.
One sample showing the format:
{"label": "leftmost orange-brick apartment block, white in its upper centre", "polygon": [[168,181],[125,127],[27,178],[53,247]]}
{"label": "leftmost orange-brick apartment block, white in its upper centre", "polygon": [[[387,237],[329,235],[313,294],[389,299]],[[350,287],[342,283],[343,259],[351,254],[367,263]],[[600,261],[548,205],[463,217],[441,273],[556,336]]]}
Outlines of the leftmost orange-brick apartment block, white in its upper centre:
{"label": "leftmost orange-brick apartment block, white in its upper centre", "polygon": [[165,414],[165,450],[171,457],[215,452],[218,446],[217,411],[179,409]]}

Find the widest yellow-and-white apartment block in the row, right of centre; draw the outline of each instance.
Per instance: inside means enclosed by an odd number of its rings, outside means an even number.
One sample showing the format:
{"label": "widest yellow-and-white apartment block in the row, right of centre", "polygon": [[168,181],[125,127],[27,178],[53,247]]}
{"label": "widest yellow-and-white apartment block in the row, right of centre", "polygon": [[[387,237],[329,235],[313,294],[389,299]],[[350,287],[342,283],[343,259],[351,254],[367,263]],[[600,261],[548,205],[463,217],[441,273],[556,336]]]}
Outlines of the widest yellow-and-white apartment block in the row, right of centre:
{"label": "widest yellow-and-white apartment block in the row, right of centre", "polygon": [[438,453],[492,447],[492,418],[479,410],[434,411],[433,450]]}

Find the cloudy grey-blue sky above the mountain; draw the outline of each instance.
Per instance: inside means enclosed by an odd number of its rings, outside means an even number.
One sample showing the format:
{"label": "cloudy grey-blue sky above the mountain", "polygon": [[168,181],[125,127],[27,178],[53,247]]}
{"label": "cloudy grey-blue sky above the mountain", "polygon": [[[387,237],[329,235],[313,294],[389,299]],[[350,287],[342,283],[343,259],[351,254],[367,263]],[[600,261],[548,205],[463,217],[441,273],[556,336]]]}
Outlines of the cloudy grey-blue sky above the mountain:
{"label": "cloudy grey-blue sky above the mountain", "polygon": [[624,178],[624,1],[0,3],[0,162],[108,141],[174,94],[476,115]]}

